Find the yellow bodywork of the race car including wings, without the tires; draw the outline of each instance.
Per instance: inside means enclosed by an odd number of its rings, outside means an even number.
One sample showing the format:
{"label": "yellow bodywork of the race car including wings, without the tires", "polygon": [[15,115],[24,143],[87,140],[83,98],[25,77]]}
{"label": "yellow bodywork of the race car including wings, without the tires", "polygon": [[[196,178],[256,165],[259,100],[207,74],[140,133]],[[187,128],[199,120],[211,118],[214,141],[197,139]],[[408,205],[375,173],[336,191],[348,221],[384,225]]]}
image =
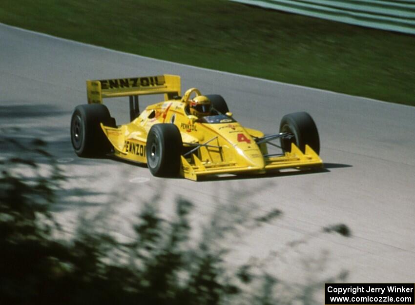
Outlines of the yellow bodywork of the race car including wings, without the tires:
{"label": "yellow bodywork of the race car including wings, without the tires", "polygon": [[[231,117],[220,122],[195,120],[187,112],[187,100],[199,90],[187,90],[180,96],[180,77],[162,75],[145,78],[87,81],[88,103],[102,103],[104,98],[147,94],[164,94],[165,101],[152,104],[130,123],[101,127],[114,147],[116,157],[147,163],[146,139],[152,125],[174,123],[180,130],[184,153],[180,175],[190,180],[217,174],[266,173],[282,168],[322,166],[320,157],[306,145],[302,153],[294,144],[290,152],[268,155],[266,143],[256,144],[261,131],[245,128]],[[200,146],[199,146],[200,145]]]}

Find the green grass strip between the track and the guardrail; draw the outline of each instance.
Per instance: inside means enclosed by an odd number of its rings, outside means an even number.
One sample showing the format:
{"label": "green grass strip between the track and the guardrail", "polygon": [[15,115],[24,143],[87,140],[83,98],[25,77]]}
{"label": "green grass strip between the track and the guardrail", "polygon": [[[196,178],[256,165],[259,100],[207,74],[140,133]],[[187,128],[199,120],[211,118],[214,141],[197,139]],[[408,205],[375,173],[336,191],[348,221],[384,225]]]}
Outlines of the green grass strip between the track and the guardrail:
{"label": "green grass strip between the track and the guardrail", "polygon": [[3,0],[0,22],[153,58],[415,105],[411,35],[225,0]]}

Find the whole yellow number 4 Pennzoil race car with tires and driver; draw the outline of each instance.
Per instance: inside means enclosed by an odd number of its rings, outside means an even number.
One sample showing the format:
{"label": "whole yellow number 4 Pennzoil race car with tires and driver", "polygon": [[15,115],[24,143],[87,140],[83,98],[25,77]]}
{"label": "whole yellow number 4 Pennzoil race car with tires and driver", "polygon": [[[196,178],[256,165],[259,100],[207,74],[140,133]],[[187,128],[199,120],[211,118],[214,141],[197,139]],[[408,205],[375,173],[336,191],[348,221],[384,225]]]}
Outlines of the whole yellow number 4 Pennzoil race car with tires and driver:
{"label": "whole yellow number 4 Pennzoil race car with tires and driver", "polygon": [[[77,106],[71,119],[71,141],[80,157],[112,155],[146,163],[154,176],[194,181],[323,165],[316,125],[305,112],[285,115],[279,133],[266,136],[237,122],[220,95],[191,88],[181,97],[176,75],[86,81],[86,87],[88,104]],[[140,113],[138,97],[148,94],[164,94],[164,101]],[[126,96],[131,122],[117,125],[103,99]],[[281,152],[269,153],[267,145]]]}

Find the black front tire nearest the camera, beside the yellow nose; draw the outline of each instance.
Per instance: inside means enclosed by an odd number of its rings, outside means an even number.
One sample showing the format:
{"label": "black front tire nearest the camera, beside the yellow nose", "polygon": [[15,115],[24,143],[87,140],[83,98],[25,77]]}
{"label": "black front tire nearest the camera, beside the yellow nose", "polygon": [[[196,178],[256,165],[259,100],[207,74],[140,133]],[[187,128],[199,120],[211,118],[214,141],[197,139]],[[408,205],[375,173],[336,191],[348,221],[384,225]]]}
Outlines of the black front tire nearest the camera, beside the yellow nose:
{"label": "black front tire nearest the camera, beside the yellow nose", "polygon": [[147,167],[156,177],[176,177],[180,171],[182,136],[174,124],[155,124],[147,136]]}

